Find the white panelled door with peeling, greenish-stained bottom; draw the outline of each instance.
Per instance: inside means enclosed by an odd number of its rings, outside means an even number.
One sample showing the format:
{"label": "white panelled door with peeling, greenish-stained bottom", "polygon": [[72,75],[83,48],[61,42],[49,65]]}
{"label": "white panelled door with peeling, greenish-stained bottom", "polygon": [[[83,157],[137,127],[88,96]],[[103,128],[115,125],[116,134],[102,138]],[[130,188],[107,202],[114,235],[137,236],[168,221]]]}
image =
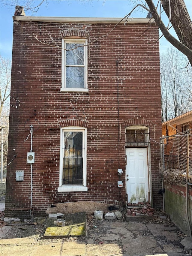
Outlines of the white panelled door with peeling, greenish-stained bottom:
{"label": "white panelled door with peeling, greenish-stained bottom", "polygon": [[126,148],[127,203],[148,201],[147,148]]}

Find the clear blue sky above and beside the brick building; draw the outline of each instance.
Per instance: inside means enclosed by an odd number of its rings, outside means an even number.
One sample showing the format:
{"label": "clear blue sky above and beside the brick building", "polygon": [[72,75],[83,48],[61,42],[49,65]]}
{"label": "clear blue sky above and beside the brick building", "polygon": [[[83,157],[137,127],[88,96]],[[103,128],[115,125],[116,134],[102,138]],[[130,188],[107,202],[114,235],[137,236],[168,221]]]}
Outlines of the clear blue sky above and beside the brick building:
{"label": "clear blue sky above and beside the brick building", "polygon": [[[19,1],[25,2],[25,1]],[[33,1],[33,6],[38,5],[41,1]],[[52,1],[46,0],[39,8],[37,13],[28,13],[32,16],[52,16],[52,17],[119,17],[122,18],[128,14],[134,7],[136,1],[128,0],[62,0]],[[0,0],[1,3],[1,0]],[[13,40],[13,19],[15,6],[10,6],[10,0],[6,1],[7,5],[0,5],[0,54],[3,57],[12,55],[12,40]],[[191,16],[192,2],[186,0],[188,12]],[[131,17],[146,17],[147,12],[137,9]],[[168,24],[166,15],[164,17],[165,24]],[[161,35],[161,32],[160,32]],[[160,52],[163,52],[170,47],[170,44],[162,38],[160,40]]]}

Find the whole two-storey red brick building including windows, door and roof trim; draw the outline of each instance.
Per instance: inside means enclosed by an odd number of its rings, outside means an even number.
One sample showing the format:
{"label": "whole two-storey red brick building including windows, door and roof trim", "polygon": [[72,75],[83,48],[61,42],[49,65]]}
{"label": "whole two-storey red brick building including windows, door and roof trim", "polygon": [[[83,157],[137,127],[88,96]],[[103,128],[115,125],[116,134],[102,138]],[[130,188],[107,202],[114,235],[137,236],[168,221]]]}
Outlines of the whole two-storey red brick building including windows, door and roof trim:
{"label": "whole two-storey red brick building including windows, door and roof trim", "polygon": [[13,17],[7,214],[85,200],[161,207],[158,26],[113,29],[119,20]]}

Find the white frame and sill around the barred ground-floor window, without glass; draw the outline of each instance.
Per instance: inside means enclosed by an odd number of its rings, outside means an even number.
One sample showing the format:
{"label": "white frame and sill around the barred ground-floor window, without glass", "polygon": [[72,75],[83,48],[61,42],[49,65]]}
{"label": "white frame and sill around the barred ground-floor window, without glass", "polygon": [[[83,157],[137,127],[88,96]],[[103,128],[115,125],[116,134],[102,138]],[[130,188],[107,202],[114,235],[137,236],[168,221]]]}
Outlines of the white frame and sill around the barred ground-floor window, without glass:
{"label": "white frame and sill around the barred ground-floor window, without glass", "polygon": [[[63,136],[64,131],[82,131],[83,132],[83,184],[82,185],[62,185],[63,175]],[[59,187],[58,192],[77,192],[77,191],[88,191],[86,186],[87,183],[87,128],[79,126],[68,126],[61,128],[60,131],[60,164],[59,164]]]}

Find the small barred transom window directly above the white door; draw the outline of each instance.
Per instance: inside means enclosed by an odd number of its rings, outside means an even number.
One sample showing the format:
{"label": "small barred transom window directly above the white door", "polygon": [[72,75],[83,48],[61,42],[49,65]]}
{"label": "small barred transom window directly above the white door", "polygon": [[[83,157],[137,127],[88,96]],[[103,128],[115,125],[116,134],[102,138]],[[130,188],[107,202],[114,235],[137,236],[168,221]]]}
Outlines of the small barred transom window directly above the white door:
{"label": "small barred transom window directly above the white door", "polygon": [[149,132],[146,130],[127,130],[126,146],[149,146]]}

